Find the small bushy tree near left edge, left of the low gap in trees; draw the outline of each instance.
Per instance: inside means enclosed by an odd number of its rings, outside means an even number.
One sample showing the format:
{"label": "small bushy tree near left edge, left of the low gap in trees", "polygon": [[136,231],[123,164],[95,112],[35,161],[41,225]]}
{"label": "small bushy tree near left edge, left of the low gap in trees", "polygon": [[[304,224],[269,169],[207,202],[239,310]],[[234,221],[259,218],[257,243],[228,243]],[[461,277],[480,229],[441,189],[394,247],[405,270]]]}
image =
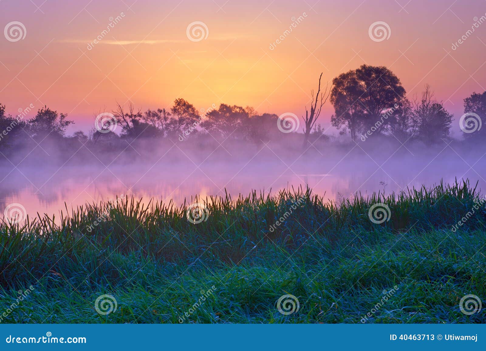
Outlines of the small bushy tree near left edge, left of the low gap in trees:
{"label": "small bushy tree near left edge, left of the low gap in trees", "polygon": [[31,136],[37,139],[44,139],[47,136],[62,138],[66,133],[66,128],[73,121],[69,121],[65,113],[58,114],[47,106],[37,111],[34,118],[28,121]]}

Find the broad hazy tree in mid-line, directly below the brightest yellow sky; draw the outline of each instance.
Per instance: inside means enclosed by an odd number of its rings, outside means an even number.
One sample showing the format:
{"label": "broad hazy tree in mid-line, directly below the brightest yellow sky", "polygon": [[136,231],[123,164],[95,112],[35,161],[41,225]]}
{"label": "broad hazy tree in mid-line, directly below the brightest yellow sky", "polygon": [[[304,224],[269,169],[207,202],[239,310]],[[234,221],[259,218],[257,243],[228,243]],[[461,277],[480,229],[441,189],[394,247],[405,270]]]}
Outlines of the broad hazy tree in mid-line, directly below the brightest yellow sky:
{"label": "broad hazy tree in mid-line, directly below the brightest yellow sky", "polygon": [[243,135],[242,126],[247,119],[248,112],[243,107],[221,104],[218,110],[212,110],[206,114],[201,127],[208,130],[211,135],[218,134],[226,139],[230,135]]}

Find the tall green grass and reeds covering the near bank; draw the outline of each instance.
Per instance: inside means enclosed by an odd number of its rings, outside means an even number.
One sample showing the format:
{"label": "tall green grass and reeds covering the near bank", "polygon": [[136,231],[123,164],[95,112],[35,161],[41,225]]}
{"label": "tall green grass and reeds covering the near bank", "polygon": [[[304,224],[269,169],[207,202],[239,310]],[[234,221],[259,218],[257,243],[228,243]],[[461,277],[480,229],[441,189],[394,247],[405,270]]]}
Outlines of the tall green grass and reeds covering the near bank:
{"label": "tall green grass and reeds covering the near bank", "polygon": [[[338,203],[292,189],[196,197],[197,224],[187,203],[133,199],[3,222],[0,322],[485,323],[459,310],[464,295],[486,299],[480,196],[468,181]],[[389,221],[370,221],[376,203]],[[103,294],[117,301],[107,315]],[[284,294],[298,311],[279,313]]]}

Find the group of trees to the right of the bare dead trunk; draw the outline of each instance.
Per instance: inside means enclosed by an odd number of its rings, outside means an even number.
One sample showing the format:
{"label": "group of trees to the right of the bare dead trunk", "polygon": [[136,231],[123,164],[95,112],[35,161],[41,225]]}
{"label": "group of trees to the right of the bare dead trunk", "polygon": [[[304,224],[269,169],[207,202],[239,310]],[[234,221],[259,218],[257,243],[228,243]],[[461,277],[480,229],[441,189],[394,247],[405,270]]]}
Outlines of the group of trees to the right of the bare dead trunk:
{"label": "group of trees to the right of the bare dead trunk", "polygon": [[[362,65],[332,80],[330,102],[335,113],[331,124],[352,140],[391,136],[401,142],[419,140],[439,143],[450,137],[454,116],[438,101],[430,85],[419,96],[407,97],[399,78],[384,66]],[[464,112],[485,116],[486,92],[464,100]],[[468,137],[484,135],[479,126],[471,132],[473,120],[461,126]],[[477,123],[481,123],[480,120]],[[469,127],[469,128],[468,128]],[[479,128],[478,128],[479,127]],[[471,133],[469,133],[471,132]]]}

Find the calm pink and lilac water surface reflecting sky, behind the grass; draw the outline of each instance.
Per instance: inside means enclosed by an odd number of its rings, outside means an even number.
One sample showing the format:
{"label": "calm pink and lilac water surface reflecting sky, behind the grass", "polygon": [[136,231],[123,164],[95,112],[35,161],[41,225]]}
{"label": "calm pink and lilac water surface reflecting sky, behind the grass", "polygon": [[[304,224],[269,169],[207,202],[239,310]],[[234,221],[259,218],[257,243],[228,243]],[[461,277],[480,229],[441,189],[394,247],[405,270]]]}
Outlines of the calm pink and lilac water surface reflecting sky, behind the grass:
{"label": "calm pink and lilac water surface reflecting sky, behind the grass", "polygon": [[453,182],[456,177],[469,178],[474,184],[479,181],[479,188],[486,186],[481,153],[459,156],[452,152],[438,155],[431,152],[420,157],[401,153],[387,158],[373,157],[375,162],[364,152],[353,150],[345,160],[343,155],[301,158],[295,162],[256,157],[230,162],[209,160],[200,167],[187,160],[108,168],[69,165],[42,170],[2,165],[0,209],[3,212],[8,204],[19,203],[30,217],[37,212],[58,215],[61,210],[66,212],[66,207],[70,210],[121,195],[145,202],[151,198],[165,202],[172,199],[180,205],[184,199],[191,202],[196,194],[203,198],[224,196],[225,189],[234,198],[251,190],[275,193],[298,186],[309,186],[314,193],[335,200],[356,192],[365,195],[374,191],[401,191],[407,186],[432,186],[441,179]]}

